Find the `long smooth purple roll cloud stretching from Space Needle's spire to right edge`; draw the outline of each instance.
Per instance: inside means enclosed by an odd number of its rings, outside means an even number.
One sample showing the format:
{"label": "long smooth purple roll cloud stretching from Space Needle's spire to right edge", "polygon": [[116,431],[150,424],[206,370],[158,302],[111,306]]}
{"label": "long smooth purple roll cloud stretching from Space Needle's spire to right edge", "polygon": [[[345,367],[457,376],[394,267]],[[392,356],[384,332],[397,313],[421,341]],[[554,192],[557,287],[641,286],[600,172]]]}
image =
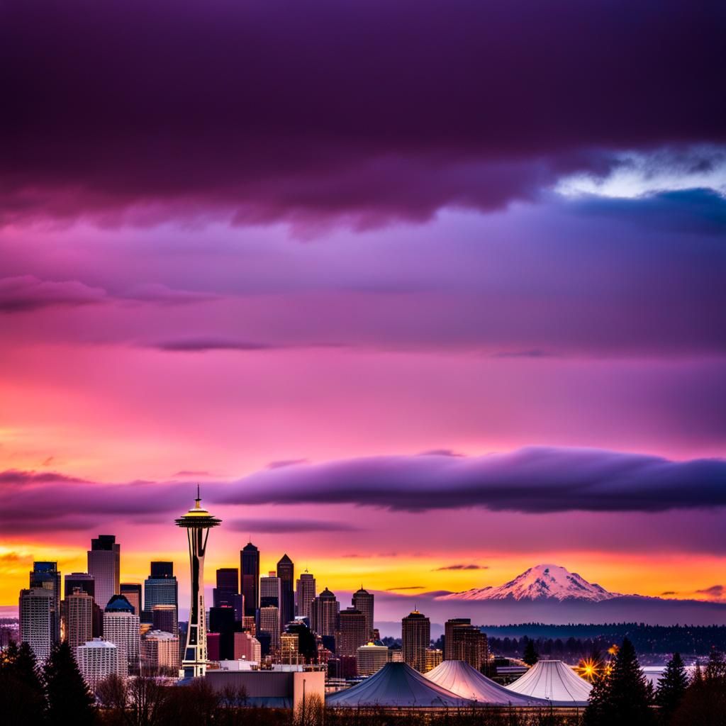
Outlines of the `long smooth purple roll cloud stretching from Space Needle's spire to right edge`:
{"label": "long smooth purple roll cloud stretching from Space Needle's spire to right edge", "polygon": [[261,471],[220,501],[351,503],[410,512],[656,512],[726,505],[726,461],[536,446],[484,457],[370,457]]}

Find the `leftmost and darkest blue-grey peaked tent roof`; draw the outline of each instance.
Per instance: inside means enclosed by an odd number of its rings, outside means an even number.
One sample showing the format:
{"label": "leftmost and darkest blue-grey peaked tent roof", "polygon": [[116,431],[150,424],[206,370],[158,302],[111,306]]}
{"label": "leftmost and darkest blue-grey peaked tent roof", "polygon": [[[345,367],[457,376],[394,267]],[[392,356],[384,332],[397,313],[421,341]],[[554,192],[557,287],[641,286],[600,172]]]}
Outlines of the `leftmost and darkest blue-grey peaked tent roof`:
{"label": "leftmost and darkest blue-grey peaked tent roof", "polygon": [[427,680],[406,663],[387,663],[370,678],[325,698],[333,708],[358,706],[458,708],[470,706],[454,693]]}

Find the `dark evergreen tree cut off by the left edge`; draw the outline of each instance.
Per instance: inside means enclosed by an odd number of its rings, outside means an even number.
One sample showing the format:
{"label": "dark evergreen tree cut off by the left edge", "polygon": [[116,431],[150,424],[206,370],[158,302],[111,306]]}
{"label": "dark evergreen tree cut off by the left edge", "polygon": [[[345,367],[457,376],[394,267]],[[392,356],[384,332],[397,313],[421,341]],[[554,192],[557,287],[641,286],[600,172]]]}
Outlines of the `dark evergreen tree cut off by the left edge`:
{"label": "dark evergreen tree cut off by the left edge", "polygon": [[33,649],[10,643],[0,659],[0,714],[4,726],[40,726],[45,695]]}

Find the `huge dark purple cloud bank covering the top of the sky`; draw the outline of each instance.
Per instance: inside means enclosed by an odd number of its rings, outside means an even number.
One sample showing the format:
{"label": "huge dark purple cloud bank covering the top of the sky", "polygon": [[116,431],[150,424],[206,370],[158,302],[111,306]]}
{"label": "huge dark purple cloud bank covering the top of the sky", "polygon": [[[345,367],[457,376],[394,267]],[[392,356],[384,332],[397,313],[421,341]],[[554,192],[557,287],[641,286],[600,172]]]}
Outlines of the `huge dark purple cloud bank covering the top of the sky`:
{"label": "huge dark purple cloud bank covering the top of the sky", "polygon": [[[3,219],[491,209],[609,150],[720,142],[717,2],[22,0]],[[698,166],[698,165],[696,165]]]}

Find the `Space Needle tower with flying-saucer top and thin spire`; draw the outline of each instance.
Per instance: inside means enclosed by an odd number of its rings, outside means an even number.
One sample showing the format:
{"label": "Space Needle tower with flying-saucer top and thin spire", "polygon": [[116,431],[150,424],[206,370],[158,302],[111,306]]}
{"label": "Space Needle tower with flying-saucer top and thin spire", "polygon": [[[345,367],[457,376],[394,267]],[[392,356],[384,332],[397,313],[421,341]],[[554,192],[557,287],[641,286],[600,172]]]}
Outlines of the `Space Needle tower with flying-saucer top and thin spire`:
{"label": "Space Needle tower with flying-saucer top and thin spire", "polygon": [[203,676],[207,670],[207,627],[204,612],[204,553],[211,527],[221,524],[200,502],[199,485],[195,505],[184,516],[179,517],[176,526],[184,527],[189,538],[189,566],[192,571],[192,602],[189,606],[189,627],[187,645],[181,670],[184,678]]}

